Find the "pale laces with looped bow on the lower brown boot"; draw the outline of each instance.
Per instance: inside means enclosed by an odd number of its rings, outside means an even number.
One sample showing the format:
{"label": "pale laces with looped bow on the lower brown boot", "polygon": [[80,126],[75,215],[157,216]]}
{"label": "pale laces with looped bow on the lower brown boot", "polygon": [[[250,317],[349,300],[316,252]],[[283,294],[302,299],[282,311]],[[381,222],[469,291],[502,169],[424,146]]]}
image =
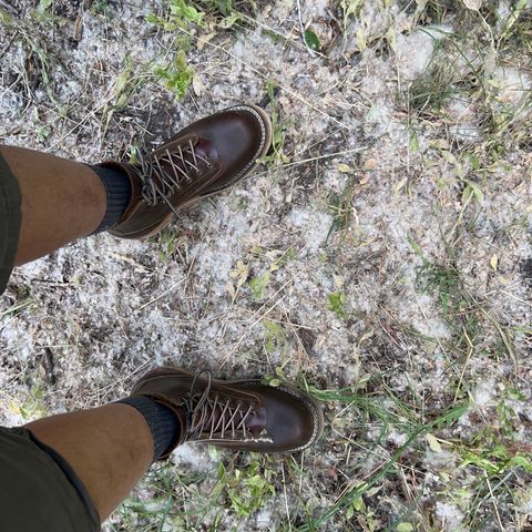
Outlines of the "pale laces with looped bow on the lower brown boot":
{"label": "pale laces with looped bow on the lower brown boot", "polygon": [[[196,383],[202,375],[207,376],[207,386],[203,393],[197,397]],[[237,439],[236,433],[242,432],[242,438],[252,438],[253,433],[246,428],[246,421],[255,415],[253,403],[246,408],[241,402],[233,403],[231,399],[221,400],[216,393],[211,397],[213,374],[208,369],[197,372],[191,385],[191,391],[185,401],[187,413],[188,433],[187,439],[197,440],[204,432],[208,432],[207,440],[227,438]],[[204,439],[204,438],[202,438]]]}

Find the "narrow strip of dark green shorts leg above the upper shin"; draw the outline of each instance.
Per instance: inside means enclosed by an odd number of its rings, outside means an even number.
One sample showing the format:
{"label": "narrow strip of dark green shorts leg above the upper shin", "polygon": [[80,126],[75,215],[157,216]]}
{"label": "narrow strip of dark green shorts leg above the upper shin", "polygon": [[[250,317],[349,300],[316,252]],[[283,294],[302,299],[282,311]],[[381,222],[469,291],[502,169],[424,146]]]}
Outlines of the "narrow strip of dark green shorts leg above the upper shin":
{"label": "narrow strip of dark green shorts leg above the upper shin", "polygon": [[6,289],[13,269],[20,217],[19,183],[0,155],[0,294]]}

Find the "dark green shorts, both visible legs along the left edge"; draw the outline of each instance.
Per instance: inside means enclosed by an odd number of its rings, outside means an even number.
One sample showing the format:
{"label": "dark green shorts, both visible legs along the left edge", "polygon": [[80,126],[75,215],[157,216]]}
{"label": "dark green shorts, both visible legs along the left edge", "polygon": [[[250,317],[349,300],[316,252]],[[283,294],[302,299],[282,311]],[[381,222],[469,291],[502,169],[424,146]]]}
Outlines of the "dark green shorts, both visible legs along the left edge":
{"label": "dark green shorts, both visible legs along the left edge", "polygon": [[[13,269],[20,188],[0,155],[0,294]],[[23,428],[0,427],[0,531],[94,532],[100,519],[69,463]]]}

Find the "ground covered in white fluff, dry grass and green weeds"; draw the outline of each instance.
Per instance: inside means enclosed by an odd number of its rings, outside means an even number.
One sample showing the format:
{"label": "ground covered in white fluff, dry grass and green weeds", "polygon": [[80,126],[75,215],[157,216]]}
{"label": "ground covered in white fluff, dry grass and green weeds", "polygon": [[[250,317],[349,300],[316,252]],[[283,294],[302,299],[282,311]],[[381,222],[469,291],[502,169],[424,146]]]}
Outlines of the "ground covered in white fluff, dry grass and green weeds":
{"label": "ground covered in white fluff, dry grass and green weeds", "polygon": [[134,158],[270,96],[248,181],[2,296],[4,424],[163,362],[324,401],[313,449],[184,446],[105,531],[532,530],[532,2],[2,0],[0,21],[2,143]]}

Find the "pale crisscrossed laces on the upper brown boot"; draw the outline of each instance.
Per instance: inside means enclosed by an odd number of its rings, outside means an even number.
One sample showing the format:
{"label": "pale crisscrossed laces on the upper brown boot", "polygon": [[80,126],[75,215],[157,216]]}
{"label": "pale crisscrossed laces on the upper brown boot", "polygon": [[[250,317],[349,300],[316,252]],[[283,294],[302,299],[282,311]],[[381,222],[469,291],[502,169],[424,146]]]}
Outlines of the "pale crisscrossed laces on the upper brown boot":
{"label": "pale crisscrossed laces on the upper brown boot", "polygon": [[196,153],[192,140],[185,146],[177,144],[172,151],[166,149],[161,154],[141,157],[133,168],[142,182],[144,202],[150,206],[164,202],[177,215],[170,198],[200,175],[200,162],[212,166],[207,158]]}

